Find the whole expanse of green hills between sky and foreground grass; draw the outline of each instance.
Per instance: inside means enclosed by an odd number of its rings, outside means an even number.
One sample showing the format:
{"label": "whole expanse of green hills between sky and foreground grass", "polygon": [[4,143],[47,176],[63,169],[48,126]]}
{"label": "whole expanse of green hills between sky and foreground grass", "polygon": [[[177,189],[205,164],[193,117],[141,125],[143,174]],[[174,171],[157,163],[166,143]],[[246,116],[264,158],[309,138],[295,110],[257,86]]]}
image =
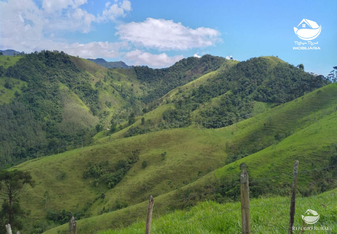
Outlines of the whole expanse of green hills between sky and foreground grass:
{"label": "whole expanse of green hills between sky and foreground grass", "polygon": [[58,51],[0,56],[1,166],[23,162],[13,168],[36,181],[20,196],[31,211],[24,231],[66,233],[71,215],[86,233],[125,227],[150,195],[156,217],[236,201],[241,168],[252,197],[287,196],[283,170],[295,159],[309,171],[302,196],[331,190],[337,86],[328,83],[273,56],[113,70]]}

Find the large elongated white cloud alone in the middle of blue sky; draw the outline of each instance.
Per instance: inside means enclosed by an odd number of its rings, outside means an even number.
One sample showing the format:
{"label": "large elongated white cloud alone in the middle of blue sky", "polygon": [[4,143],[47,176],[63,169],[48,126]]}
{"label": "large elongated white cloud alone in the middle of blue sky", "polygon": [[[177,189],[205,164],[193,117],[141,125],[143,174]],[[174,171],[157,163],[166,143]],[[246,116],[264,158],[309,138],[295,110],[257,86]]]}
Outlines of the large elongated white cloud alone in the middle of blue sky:
{"label": "large elongated white cloud alone in the middle of blue sky", "polygon": [[116,35],[122,40],[159,50],[186,50],[215,45],[221,41],[220,33],[215,29],[191,29],[165,19],[147,18],[140,23],[122,24],[117,30]]}

